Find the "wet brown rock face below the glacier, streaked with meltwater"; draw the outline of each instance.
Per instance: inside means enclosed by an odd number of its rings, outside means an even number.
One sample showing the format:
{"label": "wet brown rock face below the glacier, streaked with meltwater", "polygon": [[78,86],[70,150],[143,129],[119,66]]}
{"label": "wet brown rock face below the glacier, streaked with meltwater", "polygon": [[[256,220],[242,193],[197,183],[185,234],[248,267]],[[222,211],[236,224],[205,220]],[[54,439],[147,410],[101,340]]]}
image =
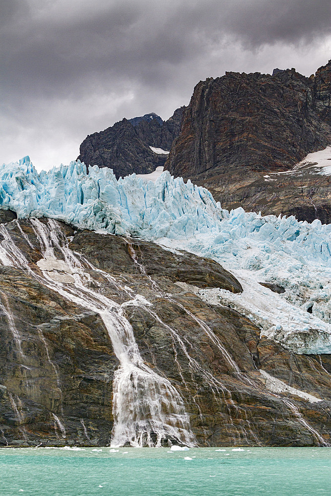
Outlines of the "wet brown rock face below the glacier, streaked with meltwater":
{"label": "wet brown rock face below the glacier, streaked with meltwater", "polygon": [[[219,264],[133,238],[6,215],[0,225],[2,445],[106,445],[125,425],[119,420],[146,411],[148,390],[121,416],[125,366],[105,324],[107,302],[118,325],[132,326],[141,357],[126,376],[124,396],[139,368],[145,378],[158,377],[159,387],[163,381],[168,392],[177,391],[193,443],[330,443],[330,356],[294,355],[237,311],[205,303],[199,288],[242,291]],[[143,382],[136,385],[133,399]],[[154,417],[171,418],[176,404],[167,398]],[[156,442],[151,411],[140,419],[151,426],[142,444]],[[159,441],[183,442],[170,434]]]}

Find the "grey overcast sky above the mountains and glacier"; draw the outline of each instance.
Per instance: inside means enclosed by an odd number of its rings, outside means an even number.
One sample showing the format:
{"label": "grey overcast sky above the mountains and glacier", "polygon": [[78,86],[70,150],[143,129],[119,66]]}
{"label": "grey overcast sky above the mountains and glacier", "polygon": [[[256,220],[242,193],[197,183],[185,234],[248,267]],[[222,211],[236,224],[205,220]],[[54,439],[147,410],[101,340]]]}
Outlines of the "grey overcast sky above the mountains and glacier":
{"label": "grey overcast sky above the mountains and glacier", "polygon": [[0,163],[68,163],[87,134],[168,119],[200,79],[331,58],[330,0],[0,0]]}

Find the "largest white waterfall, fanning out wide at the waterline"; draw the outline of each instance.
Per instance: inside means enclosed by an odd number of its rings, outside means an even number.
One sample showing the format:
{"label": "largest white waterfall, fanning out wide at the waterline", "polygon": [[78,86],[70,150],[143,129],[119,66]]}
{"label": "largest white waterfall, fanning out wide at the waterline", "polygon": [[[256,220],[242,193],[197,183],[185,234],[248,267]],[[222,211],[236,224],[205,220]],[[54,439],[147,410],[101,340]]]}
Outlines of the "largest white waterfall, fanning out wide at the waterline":
{"label": "largest white waterfall, fanning out wide at the waterline", "polygon": [[[37,262],[43,276],[31,269],[4,226],[1,234],[5,243],[1,244],[0,259],[3,265],[25,268],[48,288],[101,316],[120,362],[113,381],[114,429],[111,444],[159,446],[170,440],[194,445],[196,441],[183,399],[168,379],[143,363],[123,308],[88,287],[91,276],[86,272],[87,268],[100,271],[90,263],[84,267],[78,257],[64,246],[66,236],[58,222],[51,219],[46,224],[38,219],[30,221],[43,253],[43,259]],[[58,254],[64,260],[58,259]],[[53,418],[61,429],[63,424],[60,419],[55,414]],[[61,432],[64,434],[65,431],[61,429]]]}

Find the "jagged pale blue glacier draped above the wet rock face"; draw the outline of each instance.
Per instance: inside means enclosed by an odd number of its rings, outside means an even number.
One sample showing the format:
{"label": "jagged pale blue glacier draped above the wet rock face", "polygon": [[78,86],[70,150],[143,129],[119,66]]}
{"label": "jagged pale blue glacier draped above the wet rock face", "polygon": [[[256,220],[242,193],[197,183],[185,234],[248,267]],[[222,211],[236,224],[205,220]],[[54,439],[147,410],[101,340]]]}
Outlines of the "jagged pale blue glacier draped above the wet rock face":
{"label": "jagged pale blue glacier draped above the wet rock face", "polygon": [[110,169],[87,171],[73,161],[38,173],[24,157],[3,164],[0,178],[0,208],[18,218],[49,217],[214,259],[239,279],[243,293],[196,288],[202,299],[237,309],[291,351],[331,353],[331,225],[229,212],[207,189],[167,171],[155,182],[135,174],[116,180]]}

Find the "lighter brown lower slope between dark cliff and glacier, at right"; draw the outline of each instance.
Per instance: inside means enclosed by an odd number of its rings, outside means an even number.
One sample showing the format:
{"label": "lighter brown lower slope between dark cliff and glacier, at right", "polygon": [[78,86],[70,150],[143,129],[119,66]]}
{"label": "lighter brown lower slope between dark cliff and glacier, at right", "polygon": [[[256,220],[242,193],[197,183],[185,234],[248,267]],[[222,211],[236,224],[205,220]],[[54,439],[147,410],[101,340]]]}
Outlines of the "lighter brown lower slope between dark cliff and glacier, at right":
{"label": "lighter brown lower slope between dark cliff and glacier, at right", "polygon": [[[331,157],[331,149],[330,157]],[[315,155],[315,154],[312,154]],[[314,160],[279,173],[223,175],[197,181],[227,209],[243,207],[263,215],[294,215],[299,221],[331,223],[331,177]]]}

